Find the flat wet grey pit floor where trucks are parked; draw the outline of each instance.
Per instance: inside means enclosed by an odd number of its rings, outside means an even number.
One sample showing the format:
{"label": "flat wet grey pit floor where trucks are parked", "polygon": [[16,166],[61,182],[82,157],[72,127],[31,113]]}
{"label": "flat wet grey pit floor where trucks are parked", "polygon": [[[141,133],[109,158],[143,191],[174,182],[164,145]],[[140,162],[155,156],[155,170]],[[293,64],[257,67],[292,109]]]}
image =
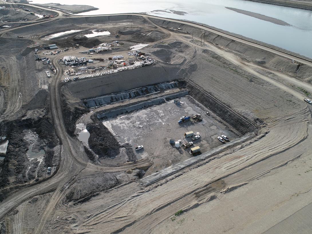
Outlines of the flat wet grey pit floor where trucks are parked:
{"label": "flat wet grey pit floor where trucks are parked", "polygon": [[[223,124],[206,115],[204,107],[191,97],[186,96],[178,100],[180,105],[174,104],[171,100],[103,122],[122,144],[130,143],[133,148],[137,145],[144,146],[144,149],[136,151],[136,154],[138,158],[149,158],[153,161],[154,164],[147,174],[193,157],[190,154],[192,147],[184,149],[182,147],[184,143],[192,141],[194,146],[199,146],[204,153],[222,145],[217,139],[222,134],[227,135],[230,140],[237,138],[236,134],[226,129]],[[178,124],[180,117],[196,114],[202,115],[201,122],[188,121]],[[193,131],[195,134],[199,132],[200,138],[197,140],[191,137],[184,138],[184,133],[188,131]],[[170,139],[181,139],[183,143],[177,149],[174,144],[169,144]]]}

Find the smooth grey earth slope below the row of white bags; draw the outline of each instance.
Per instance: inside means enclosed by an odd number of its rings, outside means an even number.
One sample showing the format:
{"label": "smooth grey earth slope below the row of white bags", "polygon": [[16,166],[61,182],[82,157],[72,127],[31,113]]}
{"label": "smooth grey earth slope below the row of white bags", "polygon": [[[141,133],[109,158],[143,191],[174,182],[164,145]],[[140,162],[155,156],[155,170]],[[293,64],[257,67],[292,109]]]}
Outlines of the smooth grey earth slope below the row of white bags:
{"label": "smooth grey earth slope below the row of white bags", "polygon": [[126,72],[117,72],[106,76],[68,82],[65,83],[62,90],[67,90],[80,100],[89,99],[175,80],[180,78],[179,70],[180,68],[178,67],[152,65]]}

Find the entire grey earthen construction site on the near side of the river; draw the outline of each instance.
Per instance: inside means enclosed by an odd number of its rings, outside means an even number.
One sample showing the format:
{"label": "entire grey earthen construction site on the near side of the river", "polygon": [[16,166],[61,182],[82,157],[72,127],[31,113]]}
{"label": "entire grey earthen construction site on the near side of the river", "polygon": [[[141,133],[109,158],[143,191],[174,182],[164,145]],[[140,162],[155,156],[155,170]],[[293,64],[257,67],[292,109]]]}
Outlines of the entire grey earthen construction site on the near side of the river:
{"label": "entire grey earthen construction site on the near side of the river", "polygon": [[0,6],[0,233],[311,233],[312,60]]}

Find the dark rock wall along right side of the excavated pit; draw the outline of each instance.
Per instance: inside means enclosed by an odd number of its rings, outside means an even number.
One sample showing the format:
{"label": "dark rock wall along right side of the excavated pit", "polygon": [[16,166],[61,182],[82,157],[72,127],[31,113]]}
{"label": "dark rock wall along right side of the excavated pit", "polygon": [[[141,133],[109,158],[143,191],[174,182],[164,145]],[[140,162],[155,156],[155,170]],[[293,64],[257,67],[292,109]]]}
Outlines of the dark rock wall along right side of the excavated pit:
{"label": "dark rock wall along right side of the excavated pit", "polygon": [[186,88],[189,90],[189,95],[195,100],[206,106],[209,110],[215,113],[219,118],[224,120],[227,124],[231,125],[242,135],[255,131],[255,127],[251,122],[238,115],[232,109],[212,97],[211,95],[203,92],[192,84],[188,83]]}

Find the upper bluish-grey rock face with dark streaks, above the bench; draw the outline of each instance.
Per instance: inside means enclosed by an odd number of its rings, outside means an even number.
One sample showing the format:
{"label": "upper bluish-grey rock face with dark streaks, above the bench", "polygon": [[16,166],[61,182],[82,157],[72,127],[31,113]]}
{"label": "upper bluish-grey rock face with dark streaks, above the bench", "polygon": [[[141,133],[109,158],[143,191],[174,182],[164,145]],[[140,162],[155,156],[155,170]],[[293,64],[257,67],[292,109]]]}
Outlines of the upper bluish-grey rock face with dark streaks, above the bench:
{"label": "upper bluish-grey rock face with dark streaks, above the bench", "polygon": [[158,85],[149,85],[149,86],[144,86],[142,88],[129,90],[126,92],[120,92],[120,93],[115,93],[115,94],[110,94],[110,95],[83,100],[83,104],[88,108],[93,108],[95,106],[105,105],[105,104],[112,103],[112,102],[139,97],[142,95],[147,95],[147,94],[159,92],[162,90],[173,89],[176,87],[183,86],[183,84],[184,82],[174,81],[174,82],[162,83]]}

